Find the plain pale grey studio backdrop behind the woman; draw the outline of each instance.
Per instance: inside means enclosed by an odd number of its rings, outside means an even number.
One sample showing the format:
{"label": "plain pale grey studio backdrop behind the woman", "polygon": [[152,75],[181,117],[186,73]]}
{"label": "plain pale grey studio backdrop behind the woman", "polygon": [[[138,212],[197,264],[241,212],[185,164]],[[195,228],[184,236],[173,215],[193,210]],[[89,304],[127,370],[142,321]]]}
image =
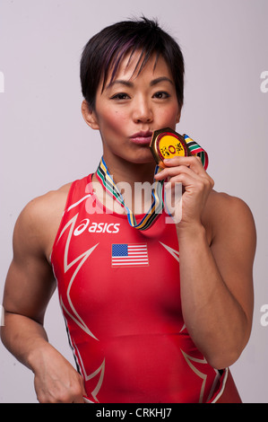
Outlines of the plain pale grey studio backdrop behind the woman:
{"label": "plain pale grey studio backdrop behind the woman", "polygon": [[[159,18],[186,59],[177,130],[209,152],[215,189],[243,198],[255,216],[253,331],[231,371],[244,402],[267,402],[267,0],[0,0],[0,299],[22,207],[99,163],[99,133],[80,111],[82,47],[108,24],[142,13]],[[56,295],[45,324],[51,343],[73,363]],[[0,402],[36,402],[33,374],[2,343]]]}

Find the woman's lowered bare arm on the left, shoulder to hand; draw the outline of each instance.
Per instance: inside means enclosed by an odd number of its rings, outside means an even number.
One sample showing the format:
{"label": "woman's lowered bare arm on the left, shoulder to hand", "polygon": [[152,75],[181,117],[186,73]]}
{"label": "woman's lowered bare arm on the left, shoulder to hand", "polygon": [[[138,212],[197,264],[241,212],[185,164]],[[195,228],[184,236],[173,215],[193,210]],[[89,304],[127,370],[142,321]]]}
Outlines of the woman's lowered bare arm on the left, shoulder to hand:
{"label": "woman's lowered bare arm on the left, shoulder to hand", "polygon": [[4,346],[35,374],[39,401],[82,402],[82,378],[48,343],[43,327],[56,288],[46,252],[51,235],[48,227],[55,224],[53,210],[57,204],[55,194],[37,198],[24,208],[15,225],[1,338]]}

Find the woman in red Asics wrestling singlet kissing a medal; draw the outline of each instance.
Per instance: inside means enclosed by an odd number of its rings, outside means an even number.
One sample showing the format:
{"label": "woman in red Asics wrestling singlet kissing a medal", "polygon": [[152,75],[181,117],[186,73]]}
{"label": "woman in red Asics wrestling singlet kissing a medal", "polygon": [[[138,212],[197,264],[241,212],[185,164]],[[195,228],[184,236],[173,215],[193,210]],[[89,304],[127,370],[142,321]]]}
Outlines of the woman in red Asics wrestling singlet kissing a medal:
{"label": "woman in red Asics wrestling singlet kissing a medal", "polygon": [[[180,48],[157,22],[119,22],[85,46],[81,81],[103,157],[18,218],[4,344],[34,372],[40,402],[239,401],[228,367],[251,331],[253,217],[212,189],[198,157],[155,174],[149,148],[154,131],[179,123]],[[153,180],[169,181],[166,193],[183,186],[172,224],[161,209],[143,226],[154,197],[137,200],[136,186]],[[77,372],[43,328],[55,279]]]}

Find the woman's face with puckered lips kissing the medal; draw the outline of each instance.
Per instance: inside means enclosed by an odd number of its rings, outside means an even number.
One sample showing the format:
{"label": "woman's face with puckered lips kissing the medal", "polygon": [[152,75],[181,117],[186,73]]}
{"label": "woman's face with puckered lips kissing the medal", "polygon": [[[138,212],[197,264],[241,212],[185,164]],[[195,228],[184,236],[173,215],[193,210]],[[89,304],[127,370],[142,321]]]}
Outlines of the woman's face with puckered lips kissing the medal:
{"label": "woman's face with puckered lips kissing the medal", "polygon": [[[93,111],[83,111],[87,123],[99,129],[105,161],[116,157],[131,163],[151,163],[151,134],[164,127],[176,128],[180,118],[176,87],[163,57],[155,66],[152,56],[137,75],[134,71],[140,53],[128,64],[126,56],[117,75],[102,92],[102,82]],[[85,116],[86,114],[86,116]]]}

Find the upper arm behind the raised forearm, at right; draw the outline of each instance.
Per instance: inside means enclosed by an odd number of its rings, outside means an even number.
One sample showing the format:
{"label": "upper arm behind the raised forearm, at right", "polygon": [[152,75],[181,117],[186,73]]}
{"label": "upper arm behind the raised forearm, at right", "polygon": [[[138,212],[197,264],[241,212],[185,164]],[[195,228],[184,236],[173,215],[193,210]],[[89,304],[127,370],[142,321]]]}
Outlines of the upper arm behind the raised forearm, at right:
{"label": "upper arm behind the raised forearm, at right", "polygon": [[229,198],[222,206],[212,240],[212,254],[229,292],[245,312],[250,330],[254,299],[255,223],[242,200]]}

